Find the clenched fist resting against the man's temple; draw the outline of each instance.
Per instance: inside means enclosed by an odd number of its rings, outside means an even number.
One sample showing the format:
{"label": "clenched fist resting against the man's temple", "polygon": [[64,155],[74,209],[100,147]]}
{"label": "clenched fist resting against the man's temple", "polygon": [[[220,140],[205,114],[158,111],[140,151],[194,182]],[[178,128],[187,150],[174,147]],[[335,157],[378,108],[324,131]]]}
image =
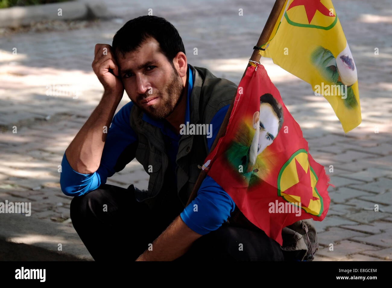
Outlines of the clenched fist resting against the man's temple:
{"label": "clenched fist resting against the man's temple", "polygon": [[[96,44],[94,54],[94,61],[91,66],[98,80],[102,83],[103,89],[105,89],[106,93],[121,94],[122,96],[124,87],[112,46],[109,44]],[[113,74],[109,69],[113,71]]]}

